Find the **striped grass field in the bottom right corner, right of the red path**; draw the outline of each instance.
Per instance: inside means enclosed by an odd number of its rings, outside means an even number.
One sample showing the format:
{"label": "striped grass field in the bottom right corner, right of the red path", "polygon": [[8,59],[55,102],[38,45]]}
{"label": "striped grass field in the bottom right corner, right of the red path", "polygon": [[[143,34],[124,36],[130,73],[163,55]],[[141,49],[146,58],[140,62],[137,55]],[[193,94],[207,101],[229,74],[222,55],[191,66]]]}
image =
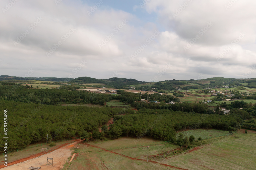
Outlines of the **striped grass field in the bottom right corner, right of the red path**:
{"label": "striped grass field in the bottom right corner, right of the red path", "polygon": [[185,169],[255,169],[255,139],[255,131],[246,135],[241,129],[232,136],[210,139],[210,144],[202,146],[202,154],[198,149],[160,162]]}

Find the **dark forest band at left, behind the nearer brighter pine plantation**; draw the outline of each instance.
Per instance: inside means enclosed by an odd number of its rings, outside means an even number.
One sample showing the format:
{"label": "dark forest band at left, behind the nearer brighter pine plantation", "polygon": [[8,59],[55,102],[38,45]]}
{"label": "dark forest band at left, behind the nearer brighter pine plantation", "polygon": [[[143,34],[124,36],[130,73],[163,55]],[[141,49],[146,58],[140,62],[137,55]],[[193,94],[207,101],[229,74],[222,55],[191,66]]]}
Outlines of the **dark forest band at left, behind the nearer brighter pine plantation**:
{"label": "dark forest band at left, behind the nearer brighter pine plantation", "polygon": [[60,89],[28,89],[15,83],[0,88],[0,99],[13,100],[24,103],[41,103],[56,105],[62,103],[101,104],[109,102],[112,97],[108,94],[77,91],[72,86],[62,86]]}

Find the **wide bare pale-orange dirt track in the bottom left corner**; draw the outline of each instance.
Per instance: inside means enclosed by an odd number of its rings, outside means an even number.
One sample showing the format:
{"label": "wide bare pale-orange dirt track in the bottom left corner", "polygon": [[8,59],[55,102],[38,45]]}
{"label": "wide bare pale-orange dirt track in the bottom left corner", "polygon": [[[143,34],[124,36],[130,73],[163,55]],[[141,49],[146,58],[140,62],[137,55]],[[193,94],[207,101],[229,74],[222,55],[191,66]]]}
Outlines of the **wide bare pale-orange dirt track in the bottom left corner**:
{"label": "wide bare pale-orange dirt track in the bottom left corner", "polygon": [[[65,161],[68,160],[68,157],[72,153],[72,151],[70,150],[72,147],[70,147],[70,145],[74,145],[74,147],[77,147],[77,144],[80,142],[81,140],[74,141],[72,143],[69,143],[66,146],[63,146],[50,153],[46,153],[38,157],[34,157],[33,155],[31,155],[30,157],[27,158],[28,159],[27,161],[25,158],[23,159],[24,162],[16,163],[14,165],[10,165],[11,164],[10,163],[8,164],[8,167],[3,168],[3,170],[12,170],[12,169],[24,170],[29,168],[30,166],[41,167],[41,169],[47,169],[47,170],[59,170],[63,168],[63,165],[66,163]],[[53,166],[47,165],[47,157],[53,158]],[[49,161],[51,162],[51,160]]]}

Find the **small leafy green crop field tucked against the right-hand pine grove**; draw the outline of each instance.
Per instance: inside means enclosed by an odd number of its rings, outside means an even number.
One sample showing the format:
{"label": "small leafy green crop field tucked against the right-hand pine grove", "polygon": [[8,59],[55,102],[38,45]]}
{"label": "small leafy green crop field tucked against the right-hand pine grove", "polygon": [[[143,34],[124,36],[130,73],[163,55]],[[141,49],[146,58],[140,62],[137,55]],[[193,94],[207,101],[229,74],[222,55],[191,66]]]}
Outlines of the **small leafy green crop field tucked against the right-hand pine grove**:
{"label": "small leafy green crop field tucked against the right-hand pine grove", "polygon": [[[182,131],[179,132],[182,133],[188,138],[193,135],[195,139],[197,140],[198,138],[202,139],[207,139],[207,138],[212,138],[212,137],[220,137],[220,136],[227,136],[230,135],[229,132],[223,131],[223,130],[205,130],[205,129],[197,129],[197,130],[187,130],[187,131]],[[178,137],[178,134],[176,135]]]}

